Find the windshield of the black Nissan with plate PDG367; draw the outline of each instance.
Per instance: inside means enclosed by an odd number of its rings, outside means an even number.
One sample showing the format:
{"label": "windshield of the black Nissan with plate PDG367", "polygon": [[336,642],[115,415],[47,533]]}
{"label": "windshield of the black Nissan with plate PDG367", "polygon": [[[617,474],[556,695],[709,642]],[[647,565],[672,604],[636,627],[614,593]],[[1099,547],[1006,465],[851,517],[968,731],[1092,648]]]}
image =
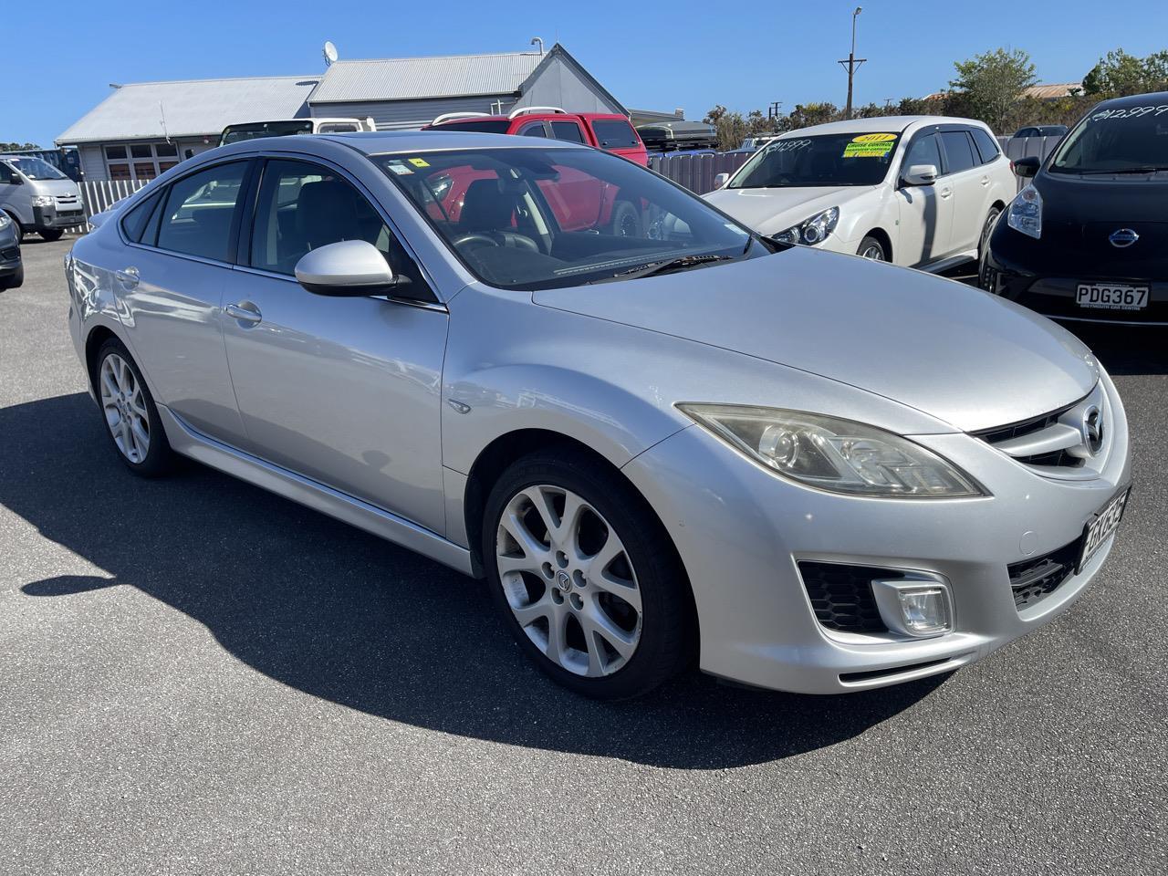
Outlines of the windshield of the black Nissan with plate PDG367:
{"label": "windshield of the black Nissan with plate PDG367", "polygon": [[1091,113],[1063,139],[1048,169],[1066,174],[1168,171],[1168,105]]}

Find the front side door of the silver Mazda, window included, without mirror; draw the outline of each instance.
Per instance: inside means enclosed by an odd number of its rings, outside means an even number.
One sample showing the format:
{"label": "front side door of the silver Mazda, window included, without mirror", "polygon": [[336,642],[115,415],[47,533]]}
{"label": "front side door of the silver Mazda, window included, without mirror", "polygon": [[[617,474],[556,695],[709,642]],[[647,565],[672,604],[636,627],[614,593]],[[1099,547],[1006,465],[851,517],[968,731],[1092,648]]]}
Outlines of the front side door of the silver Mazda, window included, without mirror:
{"label": "front side door of the silver Mazda, window included, without mirror", "polygon": [[377,246],[416,297],[429,286],[341,168],[272,158],[256,185],[222,317],[244,450],[444,533],[445,308],[307,292],[297,262],[342,239]]}

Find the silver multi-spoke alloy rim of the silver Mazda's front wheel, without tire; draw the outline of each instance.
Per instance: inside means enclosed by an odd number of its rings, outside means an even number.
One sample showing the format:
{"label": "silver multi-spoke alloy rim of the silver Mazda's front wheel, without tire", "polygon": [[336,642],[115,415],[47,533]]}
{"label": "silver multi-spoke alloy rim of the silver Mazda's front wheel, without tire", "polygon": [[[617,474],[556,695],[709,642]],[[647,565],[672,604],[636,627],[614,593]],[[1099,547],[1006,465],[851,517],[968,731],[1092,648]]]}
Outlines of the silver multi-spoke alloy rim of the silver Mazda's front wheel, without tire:
{"label": "silver multi-spoke alloy rim of the silver Mazda's front wheel, without tire", "polygon": [[577,675],[611,675],[641,637],[641,593],[620,536],[582,496],[527,487],[503,508],[499,579],[520,627]]}

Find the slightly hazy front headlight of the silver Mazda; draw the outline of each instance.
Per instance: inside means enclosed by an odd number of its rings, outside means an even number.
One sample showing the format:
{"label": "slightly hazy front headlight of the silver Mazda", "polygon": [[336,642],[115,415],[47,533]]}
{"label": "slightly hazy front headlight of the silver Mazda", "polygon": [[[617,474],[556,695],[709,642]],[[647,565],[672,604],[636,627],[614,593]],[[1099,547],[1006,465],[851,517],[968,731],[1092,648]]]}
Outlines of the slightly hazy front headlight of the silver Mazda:
{"label": "slightly hazy front headlight of the silver Mazda", "polygon": [[819,489],[885,499],[989,495],[931,450],[876,426],[779,408],[677,406],[767,471]]}

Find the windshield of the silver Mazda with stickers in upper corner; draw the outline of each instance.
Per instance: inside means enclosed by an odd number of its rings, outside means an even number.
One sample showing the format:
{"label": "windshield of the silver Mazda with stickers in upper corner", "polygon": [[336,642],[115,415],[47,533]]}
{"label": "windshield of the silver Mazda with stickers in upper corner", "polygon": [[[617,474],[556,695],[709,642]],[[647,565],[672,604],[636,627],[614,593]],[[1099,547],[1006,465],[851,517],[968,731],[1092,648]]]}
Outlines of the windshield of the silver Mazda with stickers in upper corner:
{"label": "windshield of the silver Mazda with stickers in upper corner", "polygon": [[577,286],[770,251],[751,246],[746,229],[697,196],[598,150],[495,147],[373,160],[493,286]]}

